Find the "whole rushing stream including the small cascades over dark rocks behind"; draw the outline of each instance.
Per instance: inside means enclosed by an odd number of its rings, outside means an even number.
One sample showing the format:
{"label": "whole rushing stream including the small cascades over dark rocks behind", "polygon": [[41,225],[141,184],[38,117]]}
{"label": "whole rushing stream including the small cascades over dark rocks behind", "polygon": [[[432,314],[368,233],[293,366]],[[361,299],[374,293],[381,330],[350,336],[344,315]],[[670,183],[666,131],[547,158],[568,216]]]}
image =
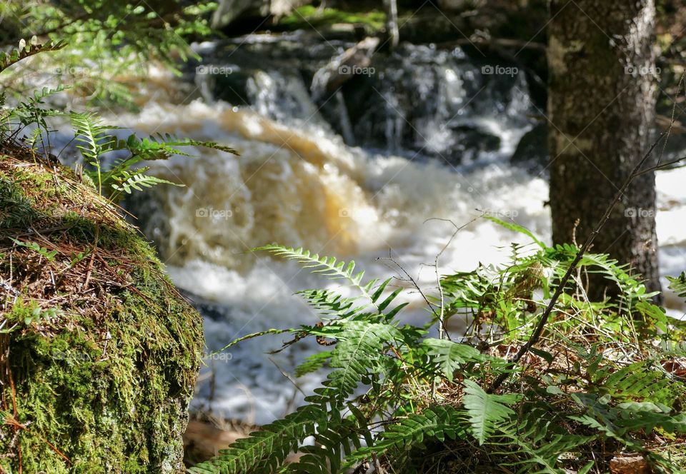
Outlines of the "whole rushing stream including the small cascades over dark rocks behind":
{"label": "whole rushing stream including the small cascades over dark rocks behind", "polygon": [[[289,45],[299,39],[240,41],[199,46],[204,62],[193,81],[202,97],[181,105],[151,100],[126,119],[142,132],[217,141],[241,153],[199,149],[197,158],[154,163],[156,176],[185,187],[159,186],[129,203],[169,275],[203,313],[208,352],[248,333],[314,323],[317,315],[293,293],[338,286],[253,247],[277,242],[354,259],[370,278],[397,275],[384,258],[390,253],[431,292],[434,258],[454,225],[493,213],[550,238],[545,171],[510,163],[542,119],[521,71],[490,74],[459,49],[402,46],[372,63],[367,95],[349,88],[327,98],[307,74],[286,66],[298,51]],[[328,46],[340,52],[349,45]],[[334,54],[310,50],[304,61],[314,76]],[[356,100],[364,104],[351,111]],[[684,177],[669,171],[657,179],[660,260],[670,275],[686,268],[683,233],[669,225],[686,221]],[[442,253],[439,271],[502,261],[512,241],[527,243],[474,221]],[[412,317],[425,317],[419,295],[407,298]],[[316,348],[266,354],[281,343],[259,338],[207,358],[197,408],[256,423],[294,408],[300,390],[307,393],[322,375],[286,378]]]}

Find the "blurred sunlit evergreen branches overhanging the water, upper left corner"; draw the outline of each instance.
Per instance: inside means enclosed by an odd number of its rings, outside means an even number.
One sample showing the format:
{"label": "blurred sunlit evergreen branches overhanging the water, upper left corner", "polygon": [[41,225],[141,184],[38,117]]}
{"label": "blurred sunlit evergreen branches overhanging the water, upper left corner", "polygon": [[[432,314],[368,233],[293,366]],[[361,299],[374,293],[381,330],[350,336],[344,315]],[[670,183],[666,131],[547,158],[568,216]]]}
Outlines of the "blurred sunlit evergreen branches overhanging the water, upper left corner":
{"label": "blurred sunlit evergreen branches overhanging the water, upper left corner", "polygon": [[133,106],[151,64],[177,71],[179,59],[194,56],[189,41],[210,33],[209,12],[216,6],[181,0],[4,1],[0,46],[34,36],[69,45],[29,61],[19,74],[0,76],[0,85],[21,99],[36,78],[47,77],[74,85],[74,94],[91,103]]}

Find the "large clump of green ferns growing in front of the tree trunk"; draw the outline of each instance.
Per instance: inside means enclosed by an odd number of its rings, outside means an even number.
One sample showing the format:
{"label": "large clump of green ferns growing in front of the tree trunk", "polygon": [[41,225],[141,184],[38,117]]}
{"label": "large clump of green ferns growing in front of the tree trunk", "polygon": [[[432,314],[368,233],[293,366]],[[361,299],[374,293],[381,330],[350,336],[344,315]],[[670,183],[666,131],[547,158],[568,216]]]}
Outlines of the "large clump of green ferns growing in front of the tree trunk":
{"label": "large clump of green ferns growing in front of the tree trunk", "polygon": [[[327,379],[307,405],[192,472],[343,473],[374,465],[402,473],[495,472],[497,466],[589,473],[607,472],[621,452],[638,453],[655,472],[686,472],[685,459],[675,455],[686,446],[686,323],[652,304],[655,293],[627,266],[602,254],[583,256],[543,337],[519,363],[508,361],[532,338],[579,251],[533,240],[513,245],[501,266],[441,276],[425,326],[403,323],[406,303],[397,301],[405,290],[392,288],[392,279],[364,281],[353,262],[263,248],[342,280],[359,296],[300,292],[322,322],[285,330],[294,338],[284,346],[307,337],[331,346],[297,370],[326,366]],[[596,273],[617,286],[618,298],[586,298],[584,282]],[[686,293],[684,281],[686,275],[672,287]],[[465,328],[457,339],[442,331],[449,319]],[[503,374],[507,379],[497,385]],[[302,445],[310,436],[314,445]],[[294,451],[302,458],[285,464]]]}

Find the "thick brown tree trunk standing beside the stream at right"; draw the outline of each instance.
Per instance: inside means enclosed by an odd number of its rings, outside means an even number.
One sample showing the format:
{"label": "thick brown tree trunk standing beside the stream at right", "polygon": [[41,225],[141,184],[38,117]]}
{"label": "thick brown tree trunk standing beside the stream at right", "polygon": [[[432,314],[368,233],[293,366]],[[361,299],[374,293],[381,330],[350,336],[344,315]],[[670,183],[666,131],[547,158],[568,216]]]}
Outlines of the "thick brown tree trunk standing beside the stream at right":
{"label": "thick brown tree trunk standing beside the stream at right", "polygon": [[[582,243],[652,144],[655,122],[653,0],[552,0],[550,4],[550,206],[552,240]],[[653,157],[646,166],[652,166]],[[630,263],[660,289],[655,174],[630,186],[592,251]],[[592,281],[600,299],[616,288]]]}

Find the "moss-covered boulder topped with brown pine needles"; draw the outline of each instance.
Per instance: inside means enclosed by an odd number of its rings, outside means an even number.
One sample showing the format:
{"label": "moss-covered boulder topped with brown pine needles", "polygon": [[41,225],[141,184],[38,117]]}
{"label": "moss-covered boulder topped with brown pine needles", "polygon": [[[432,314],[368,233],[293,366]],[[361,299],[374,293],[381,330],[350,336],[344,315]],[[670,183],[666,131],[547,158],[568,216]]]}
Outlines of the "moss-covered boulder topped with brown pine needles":
{"label": "moss-covered boulder topped with brown pine needles", "polygon": [[22,148],[0,152],[0,331],[3,472],[183,472],[202,318],[120,211]]}

